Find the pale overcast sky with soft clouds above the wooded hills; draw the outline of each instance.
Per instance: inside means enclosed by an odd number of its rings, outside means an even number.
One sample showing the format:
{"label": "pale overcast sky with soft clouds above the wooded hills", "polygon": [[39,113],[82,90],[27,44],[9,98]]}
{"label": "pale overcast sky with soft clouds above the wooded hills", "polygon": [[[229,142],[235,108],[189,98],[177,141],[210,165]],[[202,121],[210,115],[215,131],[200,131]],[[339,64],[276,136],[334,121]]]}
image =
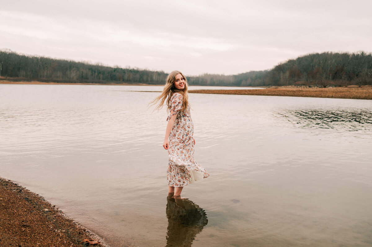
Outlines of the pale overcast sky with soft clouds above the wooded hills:
{"label": "pale overcast sky with soft clouds above the wooded hills", "polygon": [[187,75],[372,52],[371,0],[0,0],[0,49]]}

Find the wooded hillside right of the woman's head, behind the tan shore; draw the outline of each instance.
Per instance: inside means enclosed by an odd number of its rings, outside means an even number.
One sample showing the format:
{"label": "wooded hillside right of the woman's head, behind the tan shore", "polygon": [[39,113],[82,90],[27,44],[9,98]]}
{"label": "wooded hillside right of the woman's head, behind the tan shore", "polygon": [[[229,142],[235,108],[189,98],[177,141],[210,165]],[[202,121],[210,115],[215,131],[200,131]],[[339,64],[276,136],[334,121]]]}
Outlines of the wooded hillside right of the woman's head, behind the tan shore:
{"label": "wooded hillside right of the woman's head, behind the tan shore", "polygon": [[237,75],[204,74],[189,79],[192,85],[283,86],[372,85],[372,54],[312,53],[290,59],[265,71]]}

